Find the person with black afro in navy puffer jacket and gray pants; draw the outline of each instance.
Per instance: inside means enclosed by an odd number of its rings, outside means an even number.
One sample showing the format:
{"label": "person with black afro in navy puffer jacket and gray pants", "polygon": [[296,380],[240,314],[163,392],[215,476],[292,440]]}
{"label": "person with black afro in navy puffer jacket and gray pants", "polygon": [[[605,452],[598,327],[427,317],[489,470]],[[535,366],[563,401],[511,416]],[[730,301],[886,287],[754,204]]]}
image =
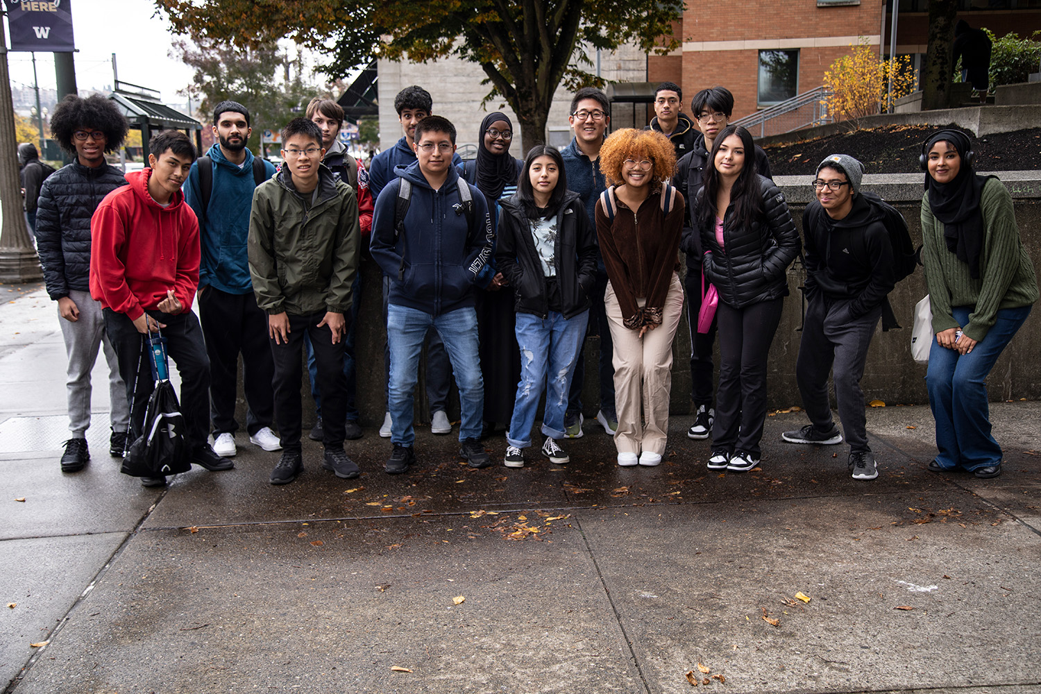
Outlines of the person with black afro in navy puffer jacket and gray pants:
{"label": "person with black afro in navy puffer jacket and gray pants", "polygon": [[126,386],[111,342],[105,335],[101,304],[91,298],[91,217],[106,195],[126,185],[123,173],[105,161],[127,134],[127,121],[109,99],[66,97],[51,115],[51,132],[71,163],[44,181],[36,204],[36,246],[47,293],[58,303],[58,322],[69,356],[68,402],[71,437],[65,442],[61,470],[76,472],[91,459],[85,432],[91,426],[91,370],[103,349],[111,397],[109,453],[122,456],[130,413]]}

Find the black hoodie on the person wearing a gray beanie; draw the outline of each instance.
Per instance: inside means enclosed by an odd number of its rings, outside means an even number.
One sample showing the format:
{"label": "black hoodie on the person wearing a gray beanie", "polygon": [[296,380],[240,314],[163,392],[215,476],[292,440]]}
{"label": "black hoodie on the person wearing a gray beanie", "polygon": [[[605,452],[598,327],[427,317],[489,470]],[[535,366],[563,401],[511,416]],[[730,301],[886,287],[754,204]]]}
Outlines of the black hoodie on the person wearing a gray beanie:
{"label": "black hoodie on the person wearing a gray beanie", "polygon": [[803,213],[806,239],[806,293],[812,301],[853,300],[849,317],[880,306],[895,284],[893,246],[882,211],[862,195],[841,220],[833,220],[816,200]]}

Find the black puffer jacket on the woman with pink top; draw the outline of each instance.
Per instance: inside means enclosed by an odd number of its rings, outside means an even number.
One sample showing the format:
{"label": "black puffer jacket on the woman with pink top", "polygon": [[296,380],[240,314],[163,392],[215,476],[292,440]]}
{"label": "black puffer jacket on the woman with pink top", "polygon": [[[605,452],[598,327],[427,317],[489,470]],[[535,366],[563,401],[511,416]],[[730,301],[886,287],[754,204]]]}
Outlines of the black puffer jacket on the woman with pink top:
{"label": "black puffer jacket on the woman with pink top", "polygon": [[[785,271],[802,249],[798,231],[788,212],[784,195],[768,178],[759,177],[763,214],[751,225],[739,226],[734,204],[723,214],[722,250],[715,229],[701,230],[705,279],[715,285],[720,301],[733,308],[771,301],[788,294]],[[702,205],[705,188],[697,194]],[[695,216],[696,219],[696,212]]]}

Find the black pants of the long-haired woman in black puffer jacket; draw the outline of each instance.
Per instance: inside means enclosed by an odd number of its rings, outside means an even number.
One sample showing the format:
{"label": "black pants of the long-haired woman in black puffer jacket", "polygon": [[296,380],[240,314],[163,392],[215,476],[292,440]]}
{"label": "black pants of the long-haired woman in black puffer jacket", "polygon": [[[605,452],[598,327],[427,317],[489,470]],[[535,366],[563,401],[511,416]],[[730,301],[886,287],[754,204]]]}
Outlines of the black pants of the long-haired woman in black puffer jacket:
{"label": "black pants of the long-haired woman in black puffer jacket", "polygon": [[713,451],[743,451],[759,458],[766,420],[766,356],[783,307],[783,297],[744,308],[719,302],[719,391],[712,426]]}

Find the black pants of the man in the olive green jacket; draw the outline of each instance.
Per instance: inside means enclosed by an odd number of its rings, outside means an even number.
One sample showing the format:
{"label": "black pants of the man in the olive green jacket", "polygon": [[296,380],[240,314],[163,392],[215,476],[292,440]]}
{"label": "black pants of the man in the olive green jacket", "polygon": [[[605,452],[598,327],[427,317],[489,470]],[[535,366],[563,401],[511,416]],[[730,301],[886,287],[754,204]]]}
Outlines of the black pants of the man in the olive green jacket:
{"label": "black pants of the man in the olive green jacket", "polygon": [[[279,344],[269,338],[271,352],[275,358],[275,420],[286,451],[299,452],[302,427],[300,385],[303,380],[304,333],[311,340],[314,363],[322,383],[322,430],[323,443],[327,448],[344,447],[344,431],[347,417],[347,377],[344,376],[344,340],[333,344],[329,326],[316,326],[325,317],[325,311],[310,315],[289,315],[289,334]],[[350,314],[344,318],[350,320]]]}

